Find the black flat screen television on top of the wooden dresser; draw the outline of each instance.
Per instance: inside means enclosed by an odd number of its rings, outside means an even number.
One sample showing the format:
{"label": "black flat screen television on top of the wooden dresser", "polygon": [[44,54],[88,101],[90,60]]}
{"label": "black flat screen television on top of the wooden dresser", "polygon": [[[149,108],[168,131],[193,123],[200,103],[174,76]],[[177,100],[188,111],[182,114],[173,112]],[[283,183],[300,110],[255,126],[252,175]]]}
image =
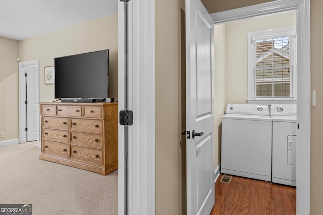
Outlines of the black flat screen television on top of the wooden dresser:
{"label": "black flat screen television on top of the wooden dresser", "polygon": [[55,98],[94,102],[109,98],[109,50],[54,59]]}

